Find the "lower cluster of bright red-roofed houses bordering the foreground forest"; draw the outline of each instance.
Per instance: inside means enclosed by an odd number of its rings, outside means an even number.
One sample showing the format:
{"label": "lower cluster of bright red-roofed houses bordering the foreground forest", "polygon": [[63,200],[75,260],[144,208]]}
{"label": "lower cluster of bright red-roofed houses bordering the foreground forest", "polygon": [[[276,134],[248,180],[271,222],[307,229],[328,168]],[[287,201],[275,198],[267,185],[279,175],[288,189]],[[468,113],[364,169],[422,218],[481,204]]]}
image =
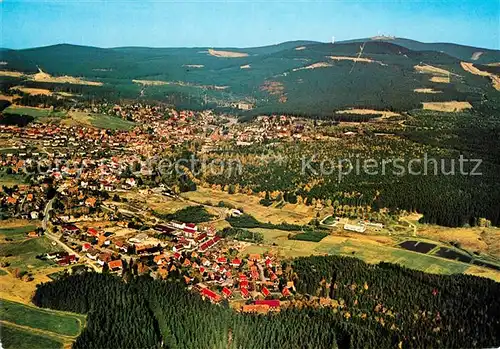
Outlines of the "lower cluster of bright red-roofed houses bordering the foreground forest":
{"label": "lower cluster of bright red-roofed houses bordering the foreground forest", "polygon": [[279,311],[279,299],[294,290],[293,283],[282,283],[281,263],[274,256],[238,257],[238,243],[216,235],[211,226],[168,222],[127,239],[75,224],[64,224],[61,230],[79,236],[81,253],[109,272],[122,273],[126,261],[134,260],[140,272],[181,279],[211,302],[255,302],[242,309],[246,312]]}

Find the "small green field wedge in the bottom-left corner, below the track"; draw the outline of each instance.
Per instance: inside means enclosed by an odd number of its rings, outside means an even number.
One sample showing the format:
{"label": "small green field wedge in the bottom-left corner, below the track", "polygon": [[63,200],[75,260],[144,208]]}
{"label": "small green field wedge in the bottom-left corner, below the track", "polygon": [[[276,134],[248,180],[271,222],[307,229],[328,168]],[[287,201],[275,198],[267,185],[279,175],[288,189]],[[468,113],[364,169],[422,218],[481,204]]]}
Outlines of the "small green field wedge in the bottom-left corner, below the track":
{"label": "small green field wedge in the bottom-left corner, below the track", "polygon": [[57,349],[63,348],[63,343],[53,337],[34,334],[29,330],[2,324],[2,348]]}

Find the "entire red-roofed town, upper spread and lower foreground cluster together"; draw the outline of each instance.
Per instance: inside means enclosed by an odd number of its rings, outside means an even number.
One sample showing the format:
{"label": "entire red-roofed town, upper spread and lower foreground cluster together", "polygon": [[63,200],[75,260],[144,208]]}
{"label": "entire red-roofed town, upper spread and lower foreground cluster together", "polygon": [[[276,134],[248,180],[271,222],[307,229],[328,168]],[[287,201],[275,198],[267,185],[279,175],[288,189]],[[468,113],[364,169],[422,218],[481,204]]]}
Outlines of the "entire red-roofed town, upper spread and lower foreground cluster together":
{"label": "entire red-roofed town, upper spread and lower foreground cluster together", "polygon": [[[250,107],[238,105],[240,109]],[[106,228],[70,222],[77,222],[81,215],[103,218],[104,209],[108,222],[121,219],[110,209],[109,193],[141,187],[143,180],[152,176],[144,159],[186,141],[200,141],[210,149],[224,140],[239,145],[266,139],[307,140],[314,132],[309,124],[283,115],[232,124],[229,117],[211,111],[176,111],[142,104],[103,103],[78,111],[115,115],[136,121],[137,126],[111,131],[64,124],[0,125],[0,137],[12,144],[12,151],[0,154],[2,168],[13,174],[43,169],[30,172],[30,185],[0,191],[2,211],[13,217],[41,219],[49,190],[57,190],[50,195],[57,197],[51,213],[55,217],[50,221],[59,225],[65,241],[78,253],[48,254],[47,259],[59,265],[83,260],[118,274],[132,261],[139,273],[181,278],[214,303],[245,300],[246,312],[279,310],[280,299],[294,291],[293,284],[283,282],[281,263],[269,254],[238,257],[238,243],[221,238],[213,227],[167,222],[151,224],[134,236],[116,236]],[[233,210],[233,214],[241,212]],[[127,227],[127,222],[123,226]]]}

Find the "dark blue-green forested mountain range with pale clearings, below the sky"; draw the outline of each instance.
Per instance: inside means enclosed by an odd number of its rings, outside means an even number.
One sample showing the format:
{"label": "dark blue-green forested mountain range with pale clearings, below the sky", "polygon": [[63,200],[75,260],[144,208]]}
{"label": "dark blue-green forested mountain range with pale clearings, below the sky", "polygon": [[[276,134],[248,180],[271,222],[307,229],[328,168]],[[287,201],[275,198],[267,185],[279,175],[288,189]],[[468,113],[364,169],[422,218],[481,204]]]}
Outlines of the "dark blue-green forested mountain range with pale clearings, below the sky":
{"label": "dark blue-green forested mountain range with pale clearings, below the sky", "polygon": [[[1,51],[3,84],[51,89],[50,79],[83,77],[100,86],[64,86],[93,99],[161,101],[178,108],[232,108],[257,115],[328,116],[366,107],[404,111],[426,101],[468,101],[498,95],[488,76],[462,62],[498,74],[500,51],[407,39],[338,43],[291,41],[256,48],[96,48],[55,45]],[[484,74],[484,73],[481,73]],[[5,75],[9,75],[6,77]],[[61,85],[58,85],[60,88]],[[433,93],[418,91],[432,90]],[[238,102],[251,110],[236,107]]]}

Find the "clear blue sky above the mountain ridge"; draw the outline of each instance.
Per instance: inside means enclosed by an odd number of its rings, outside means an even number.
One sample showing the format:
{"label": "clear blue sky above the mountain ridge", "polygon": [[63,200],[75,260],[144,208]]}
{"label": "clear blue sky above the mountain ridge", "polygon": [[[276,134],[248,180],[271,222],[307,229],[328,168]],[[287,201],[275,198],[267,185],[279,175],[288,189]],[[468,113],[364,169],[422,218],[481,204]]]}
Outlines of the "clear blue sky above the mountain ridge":
{"label": "clear blue sky above the mountain ridge", "polygon": [[249,47],[380,34],[500,48],[500,1],[0,0],[0,46]]}

